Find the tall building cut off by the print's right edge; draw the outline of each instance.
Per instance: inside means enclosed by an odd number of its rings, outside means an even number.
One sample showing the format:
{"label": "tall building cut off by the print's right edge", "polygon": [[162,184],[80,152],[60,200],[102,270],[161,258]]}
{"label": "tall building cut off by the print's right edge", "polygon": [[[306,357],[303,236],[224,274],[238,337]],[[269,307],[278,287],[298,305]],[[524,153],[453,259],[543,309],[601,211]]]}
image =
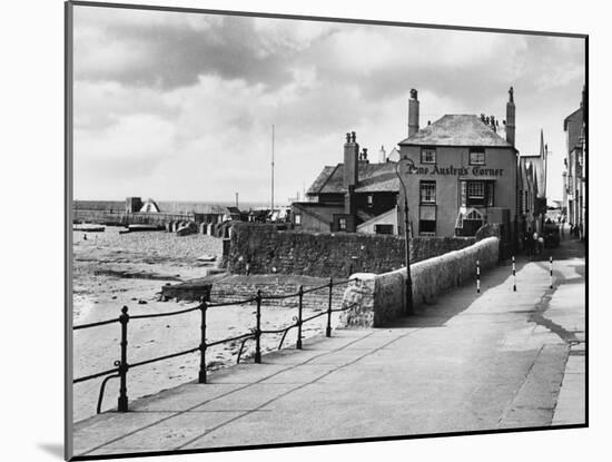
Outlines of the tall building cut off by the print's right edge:
{"label": "tall building cut off by the print's right edge", "polygon": [[584,237],[586,208],[586,140],[585,140],[585,90],[582,90],[580,108],[563,120],[565,131],[566,155],[563,171],[563,213],[570,225],[578,228],[581,238]]}

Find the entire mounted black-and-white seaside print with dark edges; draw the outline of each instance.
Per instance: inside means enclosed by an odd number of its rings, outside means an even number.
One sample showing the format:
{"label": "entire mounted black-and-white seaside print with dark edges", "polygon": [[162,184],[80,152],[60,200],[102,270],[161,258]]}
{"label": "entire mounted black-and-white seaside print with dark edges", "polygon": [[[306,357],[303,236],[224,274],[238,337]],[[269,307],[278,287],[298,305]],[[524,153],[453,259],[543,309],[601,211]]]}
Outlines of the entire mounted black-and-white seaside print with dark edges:
{"label": "entire mounted black-and-white seaside print with dark edges", "polygon": [[586,36],[66,13],[67,459],[588,425]]}

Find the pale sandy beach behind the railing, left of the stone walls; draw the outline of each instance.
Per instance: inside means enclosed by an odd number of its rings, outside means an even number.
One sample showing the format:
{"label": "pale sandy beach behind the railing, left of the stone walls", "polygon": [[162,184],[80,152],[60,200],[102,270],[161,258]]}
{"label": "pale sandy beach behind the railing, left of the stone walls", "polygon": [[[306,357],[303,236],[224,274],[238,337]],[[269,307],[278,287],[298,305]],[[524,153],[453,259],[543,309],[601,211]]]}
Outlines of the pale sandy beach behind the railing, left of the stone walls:
{"label": "pale sandy beach behind the railing, left of the stone walls", "polygon": [[[130,315],[168,313],[197,306],[196,303],[160,301],[165,284],[204,277],[216,263],[198,257],[216,256],[220,261],[223,240],[207,235],[176,236],[166,232],[119,234],[124,228],[107,226],[103,233],[73,232],[73,324],[117,318],[122,306]],[[310,278],[314,285],[326,279]],[[308,306],[304,317],[325,307]],[[207,342],[249,333],[255,327],[255,304],[209,308]],[[278,330],[294,323],[295,309],[264,305],[261,328]],[[333,326],[338,314],[333,316]],[[326,317],[303,326],[303,337],[322,335]],[[120,357],[118,323],[73,332],[73,376],[80,377],[113,368]],[[261,337],[263,352],[277,348],[280,334]],[[293,346],[296,330],[289,331],[284,346]],[[200,313],[131,320],[128,323],[128,364],[196,347],[200,344]],[[254,342],[247,341],[244,361],[253,361]],[[236,363],[240,342],[210,347],[207,368]],[[241,361],[243,361],[241,360]],[[199,353],[139,366],[128,372],[128,397],[135,400],[198,377]],[[103,377],[73,385],[73,421],[96,413]],[[109,381],[102,410],[117,406],[119,382]]]}

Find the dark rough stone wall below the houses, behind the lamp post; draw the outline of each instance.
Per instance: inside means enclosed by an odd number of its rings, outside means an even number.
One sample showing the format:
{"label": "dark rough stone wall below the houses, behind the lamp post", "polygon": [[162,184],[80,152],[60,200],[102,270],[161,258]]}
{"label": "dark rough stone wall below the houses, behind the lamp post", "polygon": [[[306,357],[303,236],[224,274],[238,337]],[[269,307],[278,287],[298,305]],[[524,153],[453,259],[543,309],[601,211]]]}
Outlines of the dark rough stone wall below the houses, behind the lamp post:
{"label": "dark rough stone wall below the houses, behind the lamp post", "polygon": [[[411,262],[467,247],[472,237],[415,237]],[[354,233],[277,230],[268,225],[236,224],[228,254],[233,274],[292,274],[346,278],[354,273],[382,274],[405,262],[404,238]]]}

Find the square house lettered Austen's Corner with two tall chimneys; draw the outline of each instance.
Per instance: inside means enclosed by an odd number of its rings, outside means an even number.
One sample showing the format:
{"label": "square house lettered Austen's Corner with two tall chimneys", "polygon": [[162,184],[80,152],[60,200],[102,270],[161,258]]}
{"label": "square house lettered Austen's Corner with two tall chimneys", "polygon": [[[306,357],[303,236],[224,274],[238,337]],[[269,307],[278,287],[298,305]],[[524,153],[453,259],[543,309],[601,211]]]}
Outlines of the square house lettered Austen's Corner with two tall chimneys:
{"label": "square house lettered Austen's Corner with two tall chimneys", "polygon": [[[408,101],[408,137],[399,142],[401,175],[408,198],[412,236],[473,236],[487,223],[500,224],[502,242],[515,242],[517,150],[514,147],[514,96],[506,120],[484,115],[445,115],[419,128],[416,90]],[[411,171],[412,170],[412,171]],[[398,226],[404,227],[399,188]]]}

